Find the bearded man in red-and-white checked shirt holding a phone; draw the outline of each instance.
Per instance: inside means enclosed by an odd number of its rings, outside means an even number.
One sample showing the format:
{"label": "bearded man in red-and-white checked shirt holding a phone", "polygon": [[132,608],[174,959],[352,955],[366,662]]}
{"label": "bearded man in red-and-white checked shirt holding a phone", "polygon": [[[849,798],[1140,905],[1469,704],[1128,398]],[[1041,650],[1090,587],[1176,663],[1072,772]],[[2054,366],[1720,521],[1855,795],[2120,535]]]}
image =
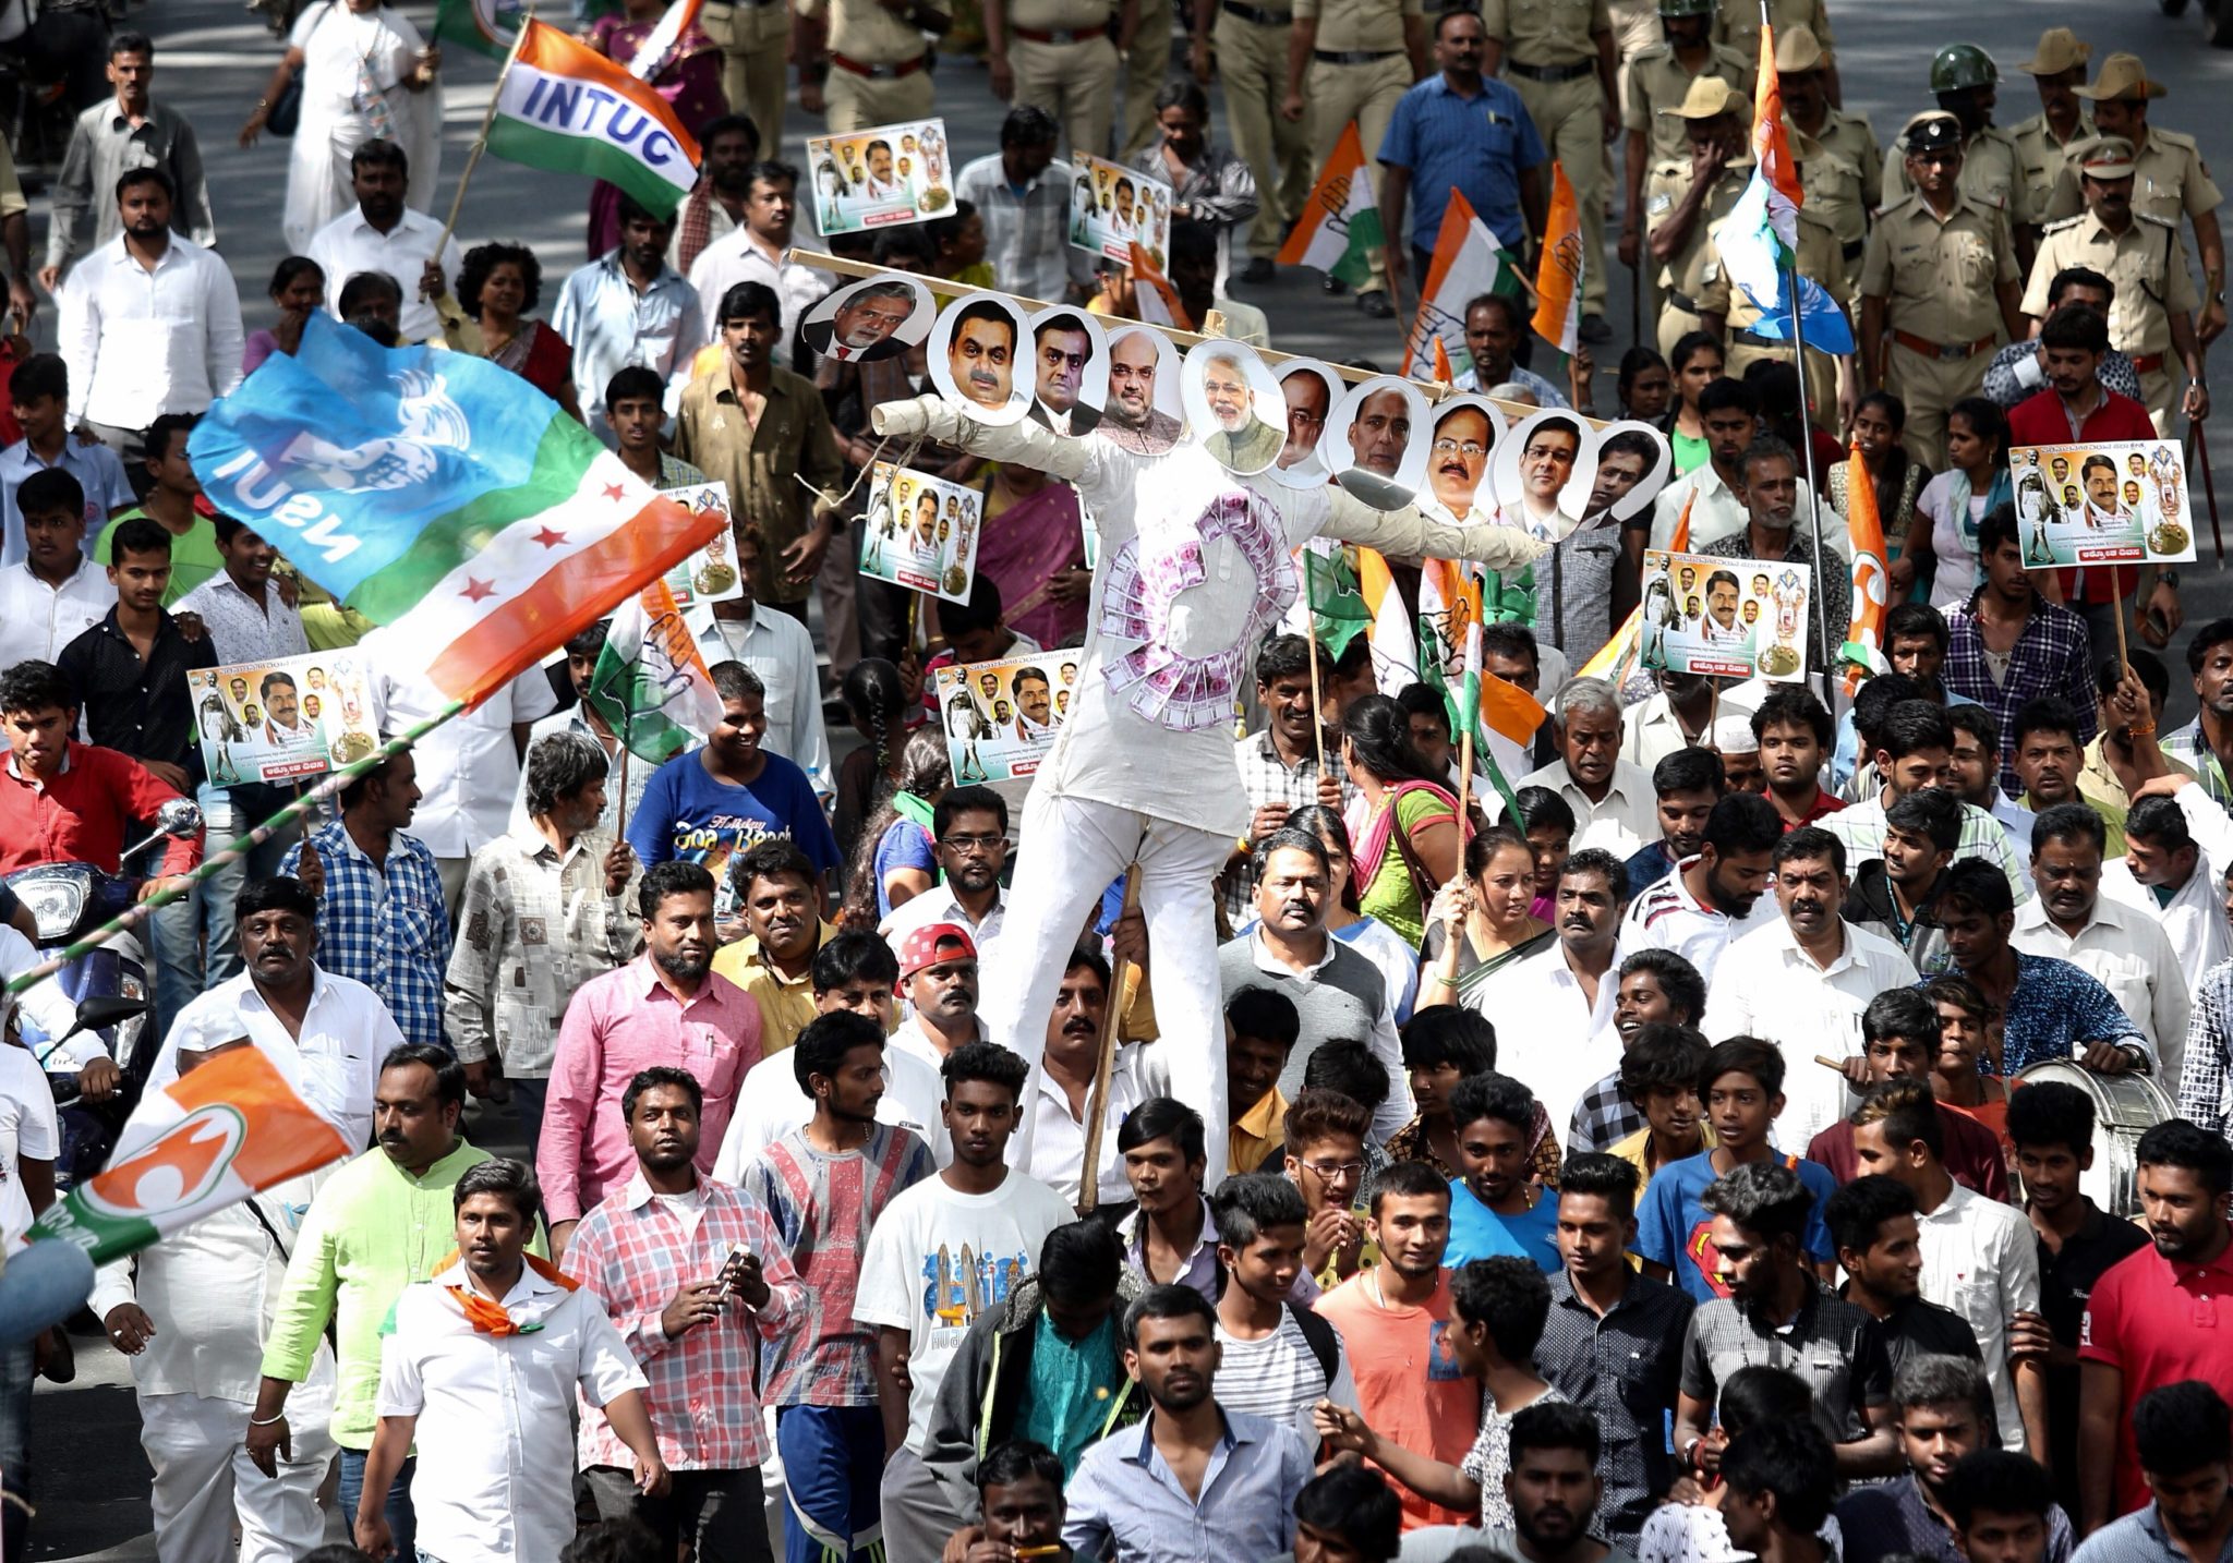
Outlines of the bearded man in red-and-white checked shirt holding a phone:
{"label": "bearded man in red-and-white checked shirt holding a phone", "polygon": [[804,1291],[768,1212],[699,1174],[703,1096],[688,1070],[668,1065],[627,1083],[621,1119],[636,1172],[581,1219],[567,1250],[567,1273],[643,1364],[672,1489],[636,1492],[627,1447],[603,1411],[583,1413],[581,1463],[603,1518],[639,1518],[661,1545],[699,1556],[748,1556],[764,1534],[768,1458],[753,1367]]}

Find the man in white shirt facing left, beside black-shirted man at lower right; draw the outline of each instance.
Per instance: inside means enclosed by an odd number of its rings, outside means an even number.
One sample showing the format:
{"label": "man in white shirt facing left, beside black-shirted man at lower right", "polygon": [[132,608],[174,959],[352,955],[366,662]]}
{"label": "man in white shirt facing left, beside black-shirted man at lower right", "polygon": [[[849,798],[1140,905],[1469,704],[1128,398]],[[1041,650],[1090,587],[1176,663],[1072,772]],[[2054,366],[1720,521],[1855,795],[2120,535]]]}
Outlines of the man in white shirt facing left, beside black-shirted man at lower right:
{"label": "man in white shirt facing left, beside black-shirted man at lower right", "polygon": [[1963,1188],[1945,1170],[1945,1125],[1925,1078],[1885,1081],[1853,1110],[1853,1161],[1916,1195],[1923,1300],[1967,1320],[1985,1358],[2001,1445],[2048,1454],[2045,1360],[2010,1358],[2010,1324],[2039,1313],[2039,1239],[2014,1206]]}

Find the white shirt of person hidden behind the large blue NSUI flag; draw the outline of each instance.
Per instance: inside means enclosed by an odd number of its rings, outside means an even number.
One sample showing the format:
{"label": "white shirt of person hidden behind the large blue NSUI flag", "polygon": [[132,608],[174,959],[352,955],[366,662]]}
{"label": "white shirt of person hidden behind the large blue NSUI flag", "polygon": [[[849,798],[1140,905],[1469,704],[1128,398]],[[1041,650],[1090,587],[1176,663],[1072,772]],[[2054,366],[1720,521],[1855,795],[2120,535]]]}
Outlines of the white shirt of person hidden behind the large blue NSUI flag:
{"label": "white shirt of person hidden behind the large blue NSUI flag", "polygon": [[[391,630],[373,630],[360,650],[368,665],[373,726],[382,732],[402,732],[449,708],[449,697],[427,679],[424,648],[409,645]],[[473,853],[507,831],[527,735],[556,708],[552,681],[540,668],[529,668],[411,748],[420,786],[411,835],[433,853],[451,920],[458,915]]]}

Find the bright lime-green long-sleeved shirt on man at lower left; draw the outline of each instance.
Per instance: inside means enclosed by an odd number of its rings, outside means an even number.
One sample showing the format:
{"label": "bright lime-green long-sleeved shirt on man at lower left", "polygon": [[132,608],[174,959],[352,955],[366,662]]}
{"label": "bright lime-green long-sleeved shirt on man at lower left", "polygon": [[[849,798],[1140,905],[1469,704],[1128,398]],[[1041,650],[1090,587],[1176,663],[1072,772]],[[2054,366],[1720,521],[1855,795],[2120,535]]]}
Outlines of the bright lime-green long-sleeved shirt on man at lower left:
{"label": "bright lime-green long-sleeved shirt on man at lower left", "polygon": [[[460,1139],[424,1177],[411,1177],[375,1145],[310,1201],[263,1340],[263,1375],[295,1384],[308,1378],[333,1320],[339,1369],[333,1440],[344,1449],[373,1447],[380,1324],[404,1286],[431,1277],[456,1250],[451,1190],[467,1168],[489,1159]],[[540,1228],[531,1248],[547,1253]]]}

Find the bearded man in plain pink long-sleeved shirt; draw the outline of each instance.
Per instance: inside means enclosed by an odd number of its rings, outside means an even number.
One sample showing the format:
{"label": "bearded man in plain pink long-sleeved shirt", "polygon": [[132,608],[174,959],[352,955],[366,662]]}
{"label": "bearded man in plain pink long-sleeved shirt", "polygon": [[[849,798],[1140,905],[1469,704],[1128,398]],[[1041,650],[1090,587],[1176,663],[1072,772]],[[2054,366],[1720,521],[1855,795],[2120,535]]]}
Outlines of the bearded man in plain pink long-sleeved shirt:
{"label": "bearded man in plain pink long-sleeved shirt", "polygon": [[706,1092],[699,1172],[712,1172],[737,1103],[759,1063],[759,1005],[715,974],[712,875],[694,862],[645,869],[636,889],[643,953],[587,982],[567,1005],[552,1063],[536,1174],[563,1259],[574,1224],[636,1168],[621,1099],[643,1070],[688,1070]]}

